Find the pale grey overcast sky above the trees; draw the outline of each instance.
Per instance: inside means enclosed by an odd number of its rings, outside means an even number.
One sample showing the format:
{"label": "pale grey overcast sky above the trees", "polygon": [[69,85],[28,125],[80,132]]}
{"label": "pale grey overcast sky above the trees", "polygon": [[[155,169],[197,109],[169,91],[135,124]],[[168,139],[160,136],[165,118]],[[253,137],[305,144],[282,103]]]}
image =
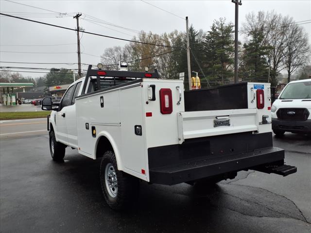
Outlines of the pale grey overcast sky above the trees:
{"label": "pale grey overcast sky above the trees", "polygon": [[[81,12],[80,27],[87,32],[101,33],[126,39],[131,39],[140,30],[146,32],[151,31],[153,33],[169,33],[173,30],[185,31],[186,27],[185,20],[140,0],[22,0],[15,2],[49,9],[54,12],[68,13],[69,15]],[[213,20],[219,17],[225,17],[228,22],[231,21],[234,23],[235,6],[231,0],[148,0],[147,2],[172,12],[177,16],[188,16],[190,24],[193,24],[197,30],[203,29],[204,31],[208,31]],[[311,0],[242,0],[242,6],[239,7],[239,26],[241,27],[247,13],[258,12],[259,10],[275,10],[283,16],[289,15],[293,17],[297,22],[310,20]],[[4,14],[19,15],[20,17],[69,28],[76,27],[76,20],[71,16],[55,17],[56,14],[53,12],[6,0],[0,0],[0,11]],[[104,24],[100,24],[102,26],[99,26],[97,25],[99,24],[98,22],[95,24],[94,22],[86,21],[94,20],[90,16],[131,30]],[[309,34],[309,42],[311,43],[311,23],[302,24],[301,26]],[[240,36],[239,39],[243,38]],[[53,28],[11,17],[0,17],[1,62],[77,63],[76,42],[77,36],[73,31]],[[100,62],[100,55],[103,54],[105,48],[117,45],[123,46],[124,44],[126,44],[124,41],[84,33],[81,39],[81,62],[97,64]],[[13,53],[14,51],[25,53]],[[92,56],[87,54],[91,54]],[[77,65],[26,65],[12,63],[1,63],[0,65],[10,67],[77,68]],[[82,68],[85,69],[86,66]],[[40,73],[22,74],[32,77],[44,75]]]}

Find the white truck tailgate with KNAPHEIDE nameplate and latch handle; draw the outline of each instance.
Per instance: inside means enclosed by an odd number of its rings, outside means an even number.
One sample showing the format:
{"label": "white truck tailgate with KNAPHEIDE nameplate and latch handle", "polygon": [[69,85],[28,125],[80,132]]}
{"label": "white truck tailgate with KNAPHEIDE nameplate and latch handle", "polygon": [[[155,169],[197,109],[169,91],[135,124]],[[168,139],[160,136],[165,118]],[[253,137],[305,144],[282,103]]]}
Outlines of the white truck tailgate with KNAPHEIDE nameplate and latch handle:
{"label": "white truck tailgate with KNAPHEIDE nameplate and latch handle", "polygon": [[258,130],[257,109],[180,112],[179,144],[185,139]]}

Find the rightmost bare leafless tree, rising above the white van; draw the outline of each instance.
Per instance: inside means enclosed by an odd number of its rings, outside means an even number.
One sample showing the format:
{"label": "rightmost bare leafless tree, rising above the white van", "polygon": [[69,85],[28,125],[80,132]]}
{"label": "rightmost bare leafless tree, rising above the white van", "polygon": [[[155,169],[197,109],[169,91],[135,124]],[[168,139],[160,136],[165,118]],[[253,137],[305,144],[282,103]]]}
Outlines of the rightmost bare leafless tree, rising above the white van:
{"label": "rightmost bare leafless tree, rising above the white van", "polygon": [[283,50],[283,64],[287,70],[287,81],[291,82],[291,75],[309,62],[311,48],[308,43],[308,34],[294,22],[287,25],[285,50]]}

